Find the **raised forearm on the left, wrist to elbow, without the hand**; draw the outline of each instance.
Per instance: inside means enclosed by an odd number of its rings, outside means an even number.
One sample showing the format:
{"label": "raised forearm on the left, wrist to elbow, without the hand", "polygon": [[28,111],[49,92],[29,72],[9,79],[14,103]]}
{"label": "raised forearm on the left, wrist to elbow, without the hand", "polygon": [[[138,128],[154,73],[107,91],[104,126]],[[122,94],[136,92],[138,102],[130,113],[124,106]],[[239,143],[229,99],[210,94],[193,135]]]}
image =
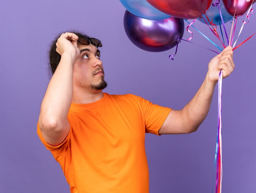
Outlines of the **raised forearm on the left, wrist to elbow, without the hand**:
{"label": "raised forearm on the left, wrist to elbow, without the hand", "polygon": [[41,104],[39,121],[42,127],[55,127],[67,120],[73,94],[74,62],[74,57],[63,53]]}

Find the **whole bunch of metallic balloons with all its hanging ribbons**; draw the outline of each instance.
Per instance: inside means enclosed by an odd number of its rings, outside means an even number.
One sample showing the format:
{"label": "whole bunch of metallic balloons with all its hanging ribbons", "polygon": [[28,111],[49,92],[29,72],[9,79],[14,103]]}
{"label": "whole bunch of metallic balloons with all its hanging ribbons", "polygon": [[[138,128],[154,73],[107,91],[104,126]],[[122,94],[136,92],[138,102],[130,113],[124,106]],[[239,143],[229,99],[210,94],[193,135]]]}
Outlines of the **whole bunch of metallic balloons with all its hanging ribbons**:
{"label": "whole bunch of metallic balloons with all its hanging ribbons", "polygon": [[[185,40],[187,42],[190,42],[189,40],[193,37],[189,27],[193,27],[202,34],[193,26],[196,20],[206,24],[224,48],[229,45],[234,50],[256,34],[252,34],[235,47],[244,25],[249,22],[249,16],[253,12],[252,5],[256,0],[120,0],[120,2],[126,8],[124,14],[126,35],[134,45],[149,52],[166,51],[175,45],[177,52],[178,44],[183,40],[184,21],[189,24],[186,29],[191,33],[191,38]],[[245,19],[242,22],[238,37],[234,41],[236,24],[241,16],[245,16]],[[188,20],[191,19],[193,21],[189,22]],[[225,23],[228,21],[232,23],[229,37],[225,27]],[[220,27],[221,36],[217,32],[217,26]],[[222,51],[222,48],[206,35],[202,34],[202,36]],[[225,36],[227,43],[225,43]],[[173,60],[175,54],[170,55],[169,58]],[[218,133],[214,161],[216,193],[222,191],[221,84],[222,71],[220,71],[218,81]]]}

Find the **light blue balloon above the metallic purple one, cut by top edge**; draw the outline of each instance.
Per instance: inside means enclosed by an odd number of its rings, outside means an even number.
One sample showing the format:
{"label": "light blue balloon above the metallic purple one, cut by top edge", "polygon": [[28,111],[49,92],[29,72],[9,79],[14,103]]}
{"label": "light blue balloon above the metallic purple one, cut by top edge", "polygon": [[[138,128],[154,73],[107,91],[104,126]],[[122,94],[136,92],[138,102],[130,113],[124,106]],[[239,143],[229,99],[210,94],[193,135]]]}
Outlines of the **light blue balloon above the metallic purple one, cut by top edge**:
{"label": "light blue balloon above the metallic purple one, cut by top edge", "polygon": [[162,20],[171,17],[159,11],[146,0],[120,0],[123,6],[135,16],[149,20]]}

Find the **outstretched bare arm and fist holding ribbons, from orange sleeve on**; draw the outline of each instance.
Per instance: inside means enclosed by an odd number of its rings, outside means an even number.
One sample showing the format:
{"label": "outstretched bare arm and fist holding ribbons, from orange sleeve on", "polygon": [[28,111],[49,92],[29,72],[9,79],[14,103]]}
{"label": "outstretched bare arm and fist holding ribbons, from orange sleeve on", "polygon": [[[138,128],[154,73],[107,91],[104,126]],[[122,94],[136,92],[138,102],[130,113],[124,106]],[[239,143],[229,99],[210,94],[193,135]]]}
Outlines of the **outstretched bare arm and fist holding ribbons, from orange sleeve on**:
{"label": "outstretched bare arm and fist holding ribbons, from orange sleeve on", "polygon": [[234,70],[233,51],[229,46],[209,63],[207,75],[193,99],[182,110],[171,110],[159,134],[190,133],[198,129],[207,116],[218,75],[222,69],[223,78]]}

